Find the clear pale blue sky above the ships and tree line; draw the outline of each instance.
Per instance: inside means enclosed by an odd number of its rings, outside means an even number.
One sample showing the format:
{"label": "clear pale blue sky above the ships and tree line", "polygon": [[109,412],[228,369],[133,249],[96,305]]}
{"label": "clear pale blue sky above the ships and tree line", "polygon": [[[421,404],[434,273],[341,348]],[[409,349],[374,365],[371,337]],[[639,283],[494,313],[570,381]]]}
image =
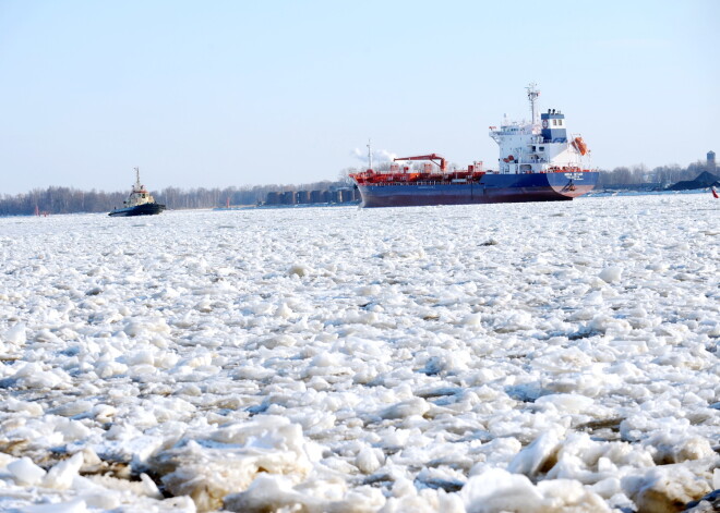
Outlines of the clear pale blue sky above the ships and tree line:
{"label": "clear pale blue sky above the ships and tree line", "polygon": [[0,0],[0,194],[493,163],[525,86],[593,164],[720,152],[720,1]]}

